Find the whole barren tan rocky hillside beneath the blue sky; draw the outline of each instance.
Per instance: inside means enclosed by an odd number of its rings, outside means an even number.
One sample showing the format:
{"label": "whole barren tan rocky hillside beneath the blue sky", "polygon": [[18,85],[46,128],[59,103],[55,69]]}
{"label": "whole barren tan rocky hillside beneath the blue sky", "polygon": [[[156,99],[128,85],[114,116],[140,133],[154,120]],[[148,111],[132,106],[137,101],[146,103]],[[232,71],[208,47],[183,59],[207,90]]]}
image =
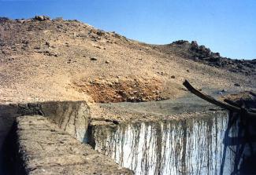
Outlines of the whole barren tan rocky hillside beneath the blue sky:
{"label": "whole barren tan rocky hillside beneath the blue sky", "polygon": [[172,99],[187,93],[184,79],[205,89],[254,90],[255,64],[196,42],[149,45],[77,20],[0,18],[1,103]]}

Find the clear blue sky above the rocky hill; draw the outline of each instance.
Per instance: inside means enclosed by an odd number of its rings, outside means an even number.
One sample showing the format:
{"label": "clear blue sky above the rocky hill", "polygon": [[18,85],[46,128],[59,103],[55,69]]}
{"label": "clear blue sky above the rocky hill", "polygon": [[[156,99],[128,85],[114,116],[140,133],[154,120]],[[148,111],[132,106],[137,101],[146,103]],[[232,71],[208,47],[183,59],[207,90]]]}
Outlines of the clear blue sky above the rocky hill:
{"label": "clear blue sky above the rocky hill", "polygon": [[256,58],[256,0],[0,0],[0,16],[42,14],[141,42],[196,40],[224,57]]}

